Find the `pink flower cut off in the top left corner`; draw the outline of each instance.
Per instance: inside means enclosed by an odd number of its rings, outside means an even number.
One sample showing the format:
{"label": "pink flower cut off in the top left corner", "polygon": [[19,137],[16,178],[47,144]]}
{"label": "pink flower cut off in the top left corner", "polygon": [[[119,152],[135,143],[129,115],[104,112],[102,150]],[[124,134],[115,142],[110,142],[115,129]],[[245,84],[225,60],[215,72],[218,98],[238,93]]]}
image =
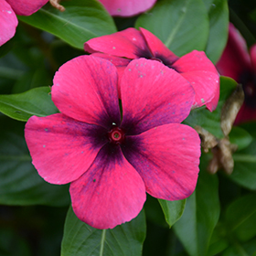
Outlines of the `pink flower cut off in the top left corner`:
{"label": "pink flower cut off in the top left corner", "polygon": [[30,16],[48,0],[0,0],[0,46],[14,37],[19,16]]}

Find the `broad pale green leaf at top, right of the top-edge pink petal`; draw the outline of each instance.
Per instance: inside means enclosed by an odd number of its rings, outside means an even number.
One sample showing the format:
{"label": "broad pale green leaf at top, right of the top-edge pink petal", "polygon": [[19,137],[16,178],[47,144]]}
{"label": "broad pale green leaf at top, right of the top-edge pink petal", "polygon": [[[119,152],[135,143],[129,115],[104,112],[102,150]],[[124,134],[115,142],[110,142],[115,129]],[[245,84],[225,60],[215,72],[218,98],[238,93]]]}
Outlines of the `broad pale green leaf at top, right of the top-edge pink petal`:
{"label": "broad pale green leaf at top, right of the top-edge pink petal", "polygon": [[202,0],[158,1],[139,16],[135,27],[151,31],[177,56],[204,50],[208,42],[208,12]]}

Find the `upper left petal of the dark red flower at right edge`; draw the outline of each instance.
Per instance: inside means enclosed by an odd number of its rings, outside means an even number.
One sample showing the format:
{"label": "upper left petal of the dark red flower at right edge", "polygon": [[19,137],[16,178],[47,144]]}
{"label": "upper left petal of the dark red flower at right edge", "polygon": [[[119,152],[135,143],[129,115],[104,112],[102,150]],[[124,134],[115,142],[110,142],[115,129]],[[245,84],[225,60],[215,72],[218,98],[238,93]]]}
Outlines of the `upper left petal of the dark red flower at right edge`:
{"label": "upper left petal of the dark red flower at right edge", "polygon": [[251,61],[246,42],[240,32],[229,23],[229,39],[216,67],[220,75],[238,81],[240,73],[250,69]]}

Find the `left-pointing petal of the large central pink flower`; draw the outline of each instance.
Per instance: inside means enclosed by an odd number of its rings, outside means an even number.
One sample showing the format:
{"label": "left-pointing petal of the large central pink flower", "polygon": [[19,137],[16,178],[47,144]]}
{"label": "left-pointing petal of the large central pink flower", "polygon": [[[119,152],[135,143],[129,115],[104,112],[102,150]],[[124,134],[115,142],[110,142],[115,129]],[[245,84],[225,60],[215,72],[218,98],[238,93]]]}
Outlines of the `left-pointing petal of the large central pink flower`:
{"label": "left-pointing petal of the large central pink flower", "polygon": [[80,123],[61,113],[32,116],[25,128],[32,163],[53,184],[69,183],[86,172],[108,142],[106,133],[101,126]]}

